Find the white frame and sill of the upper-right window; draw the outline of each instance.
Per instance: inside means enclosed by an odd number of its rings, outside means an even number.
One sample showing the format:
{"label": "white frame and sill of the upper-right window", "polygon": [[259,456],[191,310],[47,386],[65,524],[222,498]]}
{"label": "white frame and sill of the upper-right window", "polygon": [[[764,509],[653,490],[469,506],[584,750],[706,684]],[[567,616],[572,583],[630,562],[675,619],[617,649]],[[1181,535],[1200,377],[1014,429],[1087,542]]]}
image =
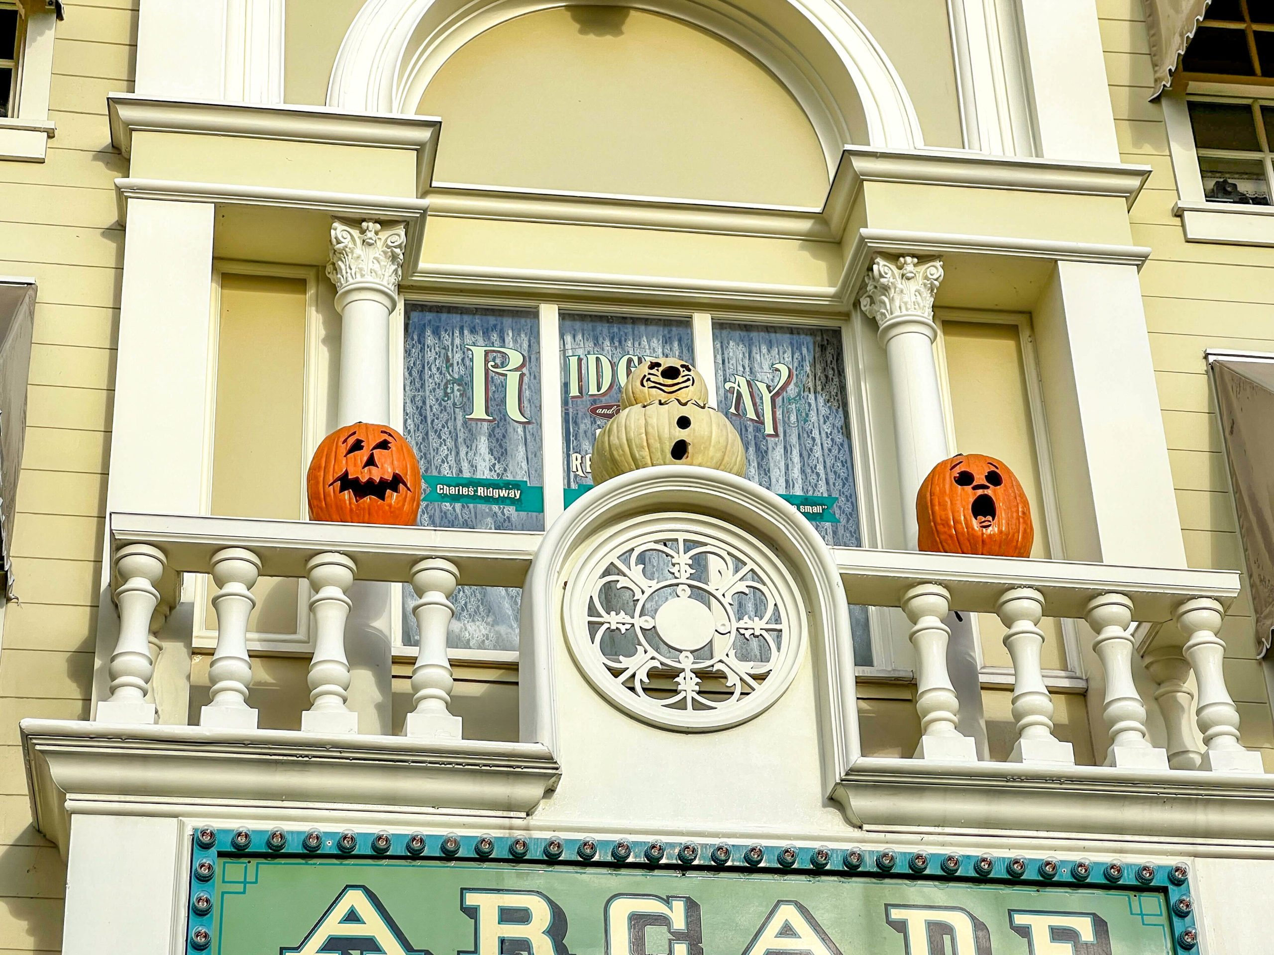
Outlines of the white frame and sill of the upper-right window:
{"label": "white frame and sill of the upper-right window", "polygon": [[[1168,131],[1172,173],[1177,182],[1178,199],[1172,211],[1181,216],[1186,242],[1274,246],[1274,205],[1231,205],[1209,202],[1204,197],[1199,152],[1187,106],[1194,99],[1236,106],[1260,102],[1274,107],[1274,87],[1190,80],[1185,90],[1167,90],[1159,99]],[[1257,135],[1264,135],[1264,129],[1257,130]],[[1274,143],[1266,145],[1274,149]],[[1266,173],[1271,174],[1270,190],[1274,192],[1274,171],[1270,169],[1269,157]]]}

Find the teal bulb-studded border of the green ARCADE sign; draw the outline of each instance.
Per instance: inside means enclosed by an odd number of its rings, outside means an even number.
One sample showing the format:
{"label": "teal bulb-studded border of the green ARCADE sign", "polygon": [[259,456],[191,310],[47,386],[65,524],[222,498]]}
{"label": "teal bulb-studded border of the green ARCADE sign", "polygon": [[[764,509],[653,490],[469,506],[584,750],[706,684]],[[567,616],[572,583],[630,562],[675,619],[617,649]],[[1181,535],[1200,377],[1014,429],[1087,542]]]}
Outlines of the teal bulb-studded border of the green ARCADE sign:
{"label": "teal bulb-studded border of the green ARCADE sign", "polygon": [[[307,835],[317,848],[306,845]],[[313,837],[317,835],[317,839]],[[187,955],[203,955],[213,942],[217,905],[213,880],[219,860],[292,857],[470,860],[476,862],[534,862],[600,868],[673,868],[768,871],[820,875],[829,879],[898,876],[947,882],[1000,885],[1071,885],[1135,890],[1161,889],[1172,913],[1172,950],[1186,955],[1198,946],[1190,870],[1175,866],[1091,863],[1080,860],[1026,856],[936,854],[924,851],[828,849],[772,843],[701,843],[659,839],[558,839],[555,837],[499,837],[426,833],[359,833],[353,829],[214,829],[200,826],[192,835],[190,866]],[[628,847],[624,854],[622,845]],[[210,866],[201,866],[208,862]]]}

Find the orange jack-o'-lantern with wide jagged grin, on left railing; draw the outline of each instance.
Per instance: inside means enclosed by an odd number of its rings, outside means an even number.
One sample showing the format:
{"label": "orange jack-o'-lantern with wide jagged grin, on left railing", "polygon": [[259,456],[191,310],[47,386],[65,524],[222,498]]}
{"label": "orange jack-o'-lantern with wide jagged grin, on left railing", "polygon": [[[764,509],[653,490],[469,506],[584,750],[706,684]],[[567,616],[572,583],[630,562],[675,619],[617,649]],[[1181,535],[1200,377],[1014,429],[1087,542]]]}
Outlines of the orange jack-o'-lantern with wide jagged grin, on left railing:
{"label": "orange jack-o'-lantern with wide jagged grin, on left railing", "polygon": [[415,523],[420,465],[396,430],[359,421],[322,439],[310,462],[306,494],[312,521]]}

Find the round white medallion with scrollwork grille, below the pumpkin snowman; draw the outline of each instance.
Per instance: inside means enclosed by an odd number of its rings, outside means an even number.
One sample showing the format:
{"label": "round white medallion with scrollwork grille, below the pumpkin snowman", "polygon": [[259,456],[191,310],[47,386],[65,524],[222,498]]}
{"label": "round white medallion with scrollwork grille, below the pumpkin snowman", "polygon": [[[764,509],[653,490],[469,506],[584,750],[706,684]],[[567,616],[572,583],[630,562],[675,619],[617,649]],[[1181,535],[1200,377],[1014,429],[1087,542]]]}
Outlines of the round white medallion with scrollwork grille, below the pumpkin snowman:
{"label": "round white medallion with scrollwork grille, below the pumpkin snowman", "polygon": [[606,532],[566,591],[567,643],[614,705],[670,730],[722,730],[796,675],[805,612],[786,568],[725,522],[664,513]]}

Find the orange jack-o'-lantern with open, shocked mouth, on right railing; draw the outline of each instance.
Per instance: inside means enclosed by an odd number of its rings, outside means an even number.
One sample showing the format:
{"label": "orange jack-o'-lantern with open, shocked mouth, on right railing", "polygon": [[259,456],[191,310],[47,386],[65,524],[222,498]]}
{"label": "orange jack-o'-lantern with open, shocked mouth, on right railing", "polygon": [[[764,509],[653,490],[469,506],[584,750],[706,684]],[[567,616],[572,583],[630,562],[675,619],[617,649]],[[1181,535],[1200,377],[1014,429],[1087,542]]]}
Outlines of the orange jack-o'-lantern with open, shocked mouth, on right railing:
{"label": "orange jack-o'-lantern with open, shocked mouth, on right railing", "polygon": [[1034,542],[1022,483],[986,455],[957,455],[936,465],[916,495],[916,521],[921,550],[1029,556]]}

